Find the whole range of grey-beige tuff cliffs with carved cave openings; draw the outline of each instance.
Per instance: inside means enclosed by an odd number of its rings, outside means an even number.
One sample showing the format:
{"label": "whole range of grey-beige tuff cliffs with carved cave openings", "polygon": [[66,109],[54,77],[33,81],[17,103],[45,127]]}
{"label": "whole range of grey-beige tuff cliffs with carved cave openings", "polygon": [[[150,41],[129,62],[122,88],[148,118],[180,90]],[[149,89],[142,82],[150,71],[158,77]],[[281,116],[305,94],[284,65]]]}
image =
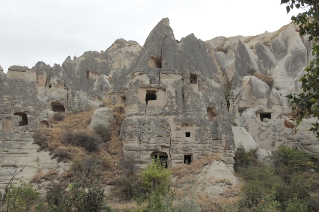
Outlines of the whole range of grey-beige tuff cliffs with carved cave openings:
{"label": "whole range of grey-beige tuff cliffs with carved cave openings", "polygon": [[[38,62],[7,74],[0,67],[0,175],[10,177],[12,166],[26,162],[26,180],[56,167],[48,152],[37,152],[33,132],[52,127],[55,112],[102,107],[105,99],[125,104],[123,153],[142,165],[153,155],[175,166],[216,154],[231,168],[234,140],[267,150],[301,143],[318,153],[307,131],[315,120],[305,120],[295,136],[283,127],[290,112],[285,96],[300,89],[310,49],[294,24],[255,37],[203,42],[191,34],[176,41],[166,18],[143,47],[118,39],[105,51],[67,57],[62,66]],[[235,139],[231,125],[242,127]]]}

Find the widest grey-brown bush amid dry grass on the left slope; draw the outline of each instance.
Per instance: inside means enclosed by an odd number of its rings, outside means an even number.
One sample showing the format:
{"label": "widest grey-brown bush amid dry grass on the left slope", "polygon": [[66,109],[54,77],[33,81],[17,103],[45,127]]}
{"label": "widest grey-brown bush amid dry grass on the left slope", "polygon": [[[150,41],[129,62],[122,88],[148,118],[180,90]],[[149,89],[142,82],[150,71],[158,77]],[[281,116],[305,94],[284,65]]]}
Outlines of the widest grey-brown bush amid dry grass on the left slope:
{"label": "widest grey-brown bush amid dry grass on the left slope", "polygon": [[79,146],[88,152],[97,152],[101,139],[95,134],[89,134],[85,131],[71,131],[63,134],[64,142],[73,146]]}

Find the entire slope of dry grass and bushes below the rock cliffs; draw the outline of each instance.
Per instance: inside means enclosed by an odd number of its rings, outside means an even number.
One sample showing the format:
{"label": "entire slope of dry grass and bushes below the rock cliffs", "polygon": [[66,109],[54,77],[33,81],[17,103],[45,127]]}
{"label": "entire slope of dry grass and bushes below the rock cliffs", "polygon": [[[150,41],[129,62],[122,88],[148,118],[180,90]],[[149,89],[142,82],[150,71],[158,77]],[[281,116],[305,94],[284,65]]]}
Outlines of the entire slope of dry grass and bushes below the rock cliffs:
{"label": "entire slope of dry grass and bushes below the rock cliffs", "polygon": [[39,150],[70,169],[37,173],[32,184],[8,184],[1,211],[319,211],[316,156],[281,146],[260,162],[241,145],[234,169],[242,189],[219,179],[216,184],[228,186],[227,193],[195,195],[194,186],[203,186],[195,178],[214,175],[203,170],[222,158],[206,156],[170,170],[154,158],[141,170],[134,157],[122,155],[123,108],[113,108],[115,121],[107,129],[88,127],[92,113],[56,113],[54,127],[34,133]]}

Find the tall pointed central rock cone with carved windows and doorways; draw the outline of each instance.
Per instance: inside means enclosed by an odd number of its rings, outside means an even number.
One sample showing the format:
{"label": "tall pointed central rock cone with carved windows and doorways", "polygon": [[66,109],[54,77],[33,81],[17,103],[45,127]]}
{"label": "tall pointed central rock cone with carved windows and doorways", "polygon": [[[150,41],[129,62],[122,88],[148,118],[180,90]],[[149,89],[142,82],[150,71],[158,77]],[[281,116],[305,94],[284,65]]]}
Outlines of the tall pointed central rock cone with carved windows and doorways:
{"label": "tall pointed central rock cone with carved windows and doorways", "polygon": [[217,68],[192,34],[177,42],[169,20],[148,36],[131,67],[121,140],[124,154],[168,166],[202,155],[232,158],[233,134]]}

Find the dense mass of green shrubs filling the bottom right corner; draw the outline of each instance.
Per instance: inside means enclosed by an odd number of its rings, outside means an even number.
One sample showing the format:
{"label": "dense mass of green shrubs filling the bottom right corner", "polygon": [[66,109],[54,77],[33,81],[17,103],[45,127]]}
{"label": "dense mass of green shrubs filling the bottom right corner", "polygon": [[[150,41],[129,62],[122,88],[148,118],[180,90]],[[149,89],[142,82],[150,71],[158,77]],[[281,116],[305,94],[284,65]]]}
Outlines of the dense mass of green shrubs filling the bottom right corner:
{"label": "dense mass of green shrubs filling the bottom right corner", "polygon": [[[244,180],[241,198],[224,211],[318,211],[318,159],[298,149],[280,146],[271,157],[272,166],[254,161],[238,146],[236,168]],[[242,159],[242,160],[240,160]],[[248,162],[250,161],[250,162]],[[248,165],[247,165],[248,164]]]}

